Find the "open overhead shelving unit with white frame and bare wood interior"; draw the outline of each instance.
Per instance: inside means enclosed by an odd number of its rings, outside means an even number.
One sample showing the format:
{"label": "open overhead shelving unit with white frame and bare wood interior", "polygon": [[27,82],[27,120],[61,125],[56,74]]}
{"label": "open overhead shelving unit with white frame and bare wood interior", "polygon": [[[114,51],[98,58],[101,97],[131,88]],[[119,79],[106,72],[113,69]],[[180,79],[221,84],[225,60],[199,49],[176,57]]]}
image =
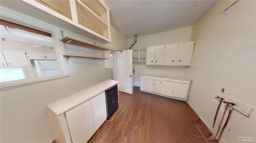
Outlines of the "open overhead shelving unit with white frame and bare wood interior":
{"label": "open overhead shelving unit with white frame and bare wood interior", "polygon": [[[109,8],[101,0],[23,0],[23,2],[48,13],[48,16],[42,18],[38,15],[42,11],[33,9],[31,15],[34,18],[99,43],[111,42]],[[27,7],[28,10],[31,9]]]}

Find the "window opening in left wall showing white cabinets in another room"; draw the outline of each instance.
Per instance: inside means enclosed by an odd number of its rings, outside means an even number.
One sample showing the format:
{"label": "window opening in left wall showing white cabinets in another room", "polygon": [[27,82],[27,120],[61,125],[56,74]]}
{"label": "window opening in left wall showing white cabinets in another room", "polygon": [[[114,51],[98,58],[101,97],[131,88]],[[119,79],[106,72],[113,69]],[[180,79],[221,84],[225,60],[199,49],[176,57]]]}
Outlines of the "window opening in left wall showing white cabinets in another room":
{"label": "window opening in left wall showing white cabinets in another room", "polygon": [[0,20],[0,36],[1,90],[69,76],[60,69],[51,33]]}

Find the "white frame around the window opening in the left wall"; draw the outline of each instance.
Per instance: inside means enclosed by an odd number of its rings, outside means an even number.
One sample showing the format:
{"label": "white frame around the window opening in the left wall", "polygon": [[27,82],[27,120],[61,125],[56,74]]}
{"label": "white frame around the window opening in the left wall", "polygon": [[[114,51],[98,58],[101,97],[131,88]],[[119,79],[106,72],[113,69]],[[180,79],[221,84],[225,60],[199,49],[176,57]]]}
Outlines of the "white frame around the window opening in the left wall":
{"label": "white frame around the window opening in the left wall", "polygon": [[2,6],[0,6],[0,11],[1,11],[1,13],[0,13],[1,20],[5,20],[7,22],[12,22],[15,24],[30,27],[32,29],[44,31],[46,33],[51,33],[53,43],[54,43],[54,49],[55,49],[55,53],[56,53],[56,57],[57,57],[58,66],[60,68],[60,75],[56,75],[56,76],[38,77],[38,78],[31,78],[31,79],[21,79],[21,80],[1,82],[0,83],[0,91],[23,87],[23,86],[28,86],[28,85],[32,85],[32,84],[37,84],[37,83],[46,82],[49,80],[54,80],[54,79],[70,76],[70,74],[68,74],[66,71],[67,63],[65,61],[65,57],[63,57],[63,55],[65,55],[64,43],[59,41],[60,39],[62,39],[61,31],[64,29],[61,29],[56,26],[50,25],[48,23],[42,22],[35,18],[31,18],[24,14],[18,13],[14,10],[4,8]]}

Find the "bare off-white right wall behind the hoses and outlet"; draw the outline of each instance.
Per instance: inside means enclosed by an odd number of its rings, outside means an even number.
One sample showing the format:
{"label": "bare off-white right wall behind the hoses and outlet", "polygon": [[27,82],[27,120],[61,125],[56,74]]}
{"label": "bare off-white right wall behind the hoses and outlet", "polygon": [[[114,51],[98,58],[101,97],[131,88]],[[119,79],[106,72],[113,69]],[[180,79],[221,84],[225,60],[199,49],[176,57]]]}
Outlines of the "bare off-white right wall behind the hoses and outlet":
{"label": "bare off-white right wall behind the hoses and outlet", "polygon": [[[191,66],[186,78],[192,79],[188,102],[205,119],[213,123],[220,89],[255,108],[256,105],[256,11],[255,1],[240,0],[220,14],[233,1],[220,0],[193,26],[191,41],[196,41]],[[250,118],[234,111],[223,134],[227,143],[238,137],[256,141],[256,113]]]}

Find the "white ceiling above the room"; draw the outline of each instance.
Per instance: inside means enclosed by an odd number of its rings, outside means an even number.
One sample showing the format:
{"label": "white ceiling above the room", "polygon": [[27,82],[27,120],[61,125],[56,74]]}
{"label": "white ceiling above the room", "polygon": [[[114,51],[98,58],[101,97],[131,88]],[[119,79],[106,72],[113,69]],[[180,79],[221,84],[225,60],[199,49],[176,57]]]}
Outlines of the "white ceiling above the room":
{"label": "white ceiling above the room", "polygon": [[150,35],[193,25],[218,0],[104,0],[122,35]]}

